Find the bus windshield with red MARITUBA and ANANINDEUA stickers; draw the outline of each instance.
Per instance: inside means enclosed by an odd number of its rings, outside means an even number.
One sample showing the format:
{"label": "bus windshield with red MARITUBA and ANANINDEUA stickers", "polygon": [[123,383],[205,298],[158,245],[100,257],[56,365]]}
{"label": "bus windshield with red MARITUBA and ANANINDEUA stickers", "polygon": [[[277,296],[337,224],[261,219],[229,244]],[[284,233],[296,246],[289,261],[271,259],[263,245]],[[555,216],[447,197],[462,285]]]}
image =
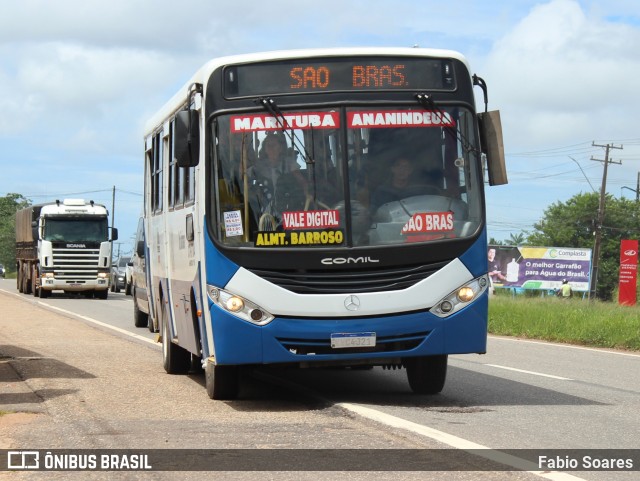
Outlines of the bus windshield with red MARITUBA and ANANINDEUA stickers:
{"label": "bus windshield with red MARITUBA and ANANINDEUA stickers", "polygon": [[226,114],[211,129],[213,231],[223,245],[430,243],[481,226],[479,149],[465,108]]}

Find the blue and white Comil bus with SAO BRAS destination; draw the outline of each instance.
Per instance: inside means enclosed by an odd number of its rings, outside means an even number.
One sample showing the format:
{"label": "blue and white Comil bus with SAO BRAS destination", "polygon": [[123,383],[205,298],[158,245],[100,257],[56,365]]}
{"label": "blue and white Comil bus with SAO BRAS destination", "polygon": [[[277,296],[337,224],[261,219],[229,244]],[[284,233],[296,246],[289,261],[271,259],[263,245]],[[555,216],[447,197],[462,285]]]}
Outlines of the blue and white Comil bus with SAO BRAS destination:
{"label": "blue and white Comil bus with SAO BRAS destination", "polygon": [[144,143],[167,373],[201,365],[209,397],[234,399],[256,366],[383,366],[435,394],[449,354],[485,352],[484,184],[507,179],[499,112],[460,53],[217,58]]}

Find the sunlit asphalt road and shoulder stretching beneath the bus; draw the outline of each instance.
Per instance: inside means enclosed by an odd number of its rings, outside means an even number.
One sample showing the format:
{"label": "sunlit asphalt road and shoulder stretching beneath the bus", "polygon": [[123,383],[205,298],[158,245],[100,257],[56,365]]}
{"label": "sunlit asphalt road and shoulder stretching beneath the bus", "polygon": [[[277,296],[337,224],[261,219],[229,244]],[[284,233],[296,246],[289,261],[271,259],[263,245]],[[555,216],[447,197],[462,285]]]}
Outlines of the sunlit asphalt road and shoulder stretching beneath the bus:
{"label": "sunlit asphalt road and shoulder stretching beneath the bus", "polygon": [[[0,417],[0,448],[453,447],[550,455],[607,449],[610,456],[640,448],[640,355],[634,353],[491,337],[486,355],[450,357],[438,396],[412,394],[403,371],[260,370],[243,378],[240,400],[215,402],[206,396],[201,373],[164,373],[154,335],[133,326],[132,301],[124,294],[110,293],[106,301],[55,294],[40,300],[18,295],[15,281],[6,280],[0,281],[0,306],[0,360],[9,359],[18,374],[14,388],[26,384],[22,389],[39,399],[32,409],[37,420],[22,427],[3,428],[7,416]],[[32,376],[25,359],[47,359],[63,375]],[[2,400],[0,394],[0,410]],[[3,446],[3,435],[10,444]],[[637,474],[422,472],[420,479],[617,480]],[[358,476],[367,479],[366,473],[322,479]]]}

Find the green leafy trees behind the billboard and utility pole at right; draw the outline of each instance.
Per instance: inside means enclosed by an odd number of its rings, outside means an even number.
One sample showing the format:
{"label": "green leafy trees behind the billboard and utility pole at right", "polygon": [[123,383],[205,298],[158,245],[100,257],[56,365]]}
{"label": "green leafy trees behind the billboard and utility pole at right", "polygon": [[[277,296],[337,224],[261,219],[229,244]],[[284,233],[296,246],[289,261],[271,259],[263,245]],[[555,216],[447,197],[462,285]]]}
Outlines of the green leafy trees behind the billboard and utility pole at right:
{"label": "green leafy trees behind the billboard and utility pole at right", "polygon": [[[549,247],[582,247],[593,249],[598,217],[599,194],[573,196],[567,202],[556,202],[534,224],[527,237],[529,245]],[[640,203],[628,199],[606,197],[602,226],[600,273],[597,297],[610,300],[618,284],[620,240],[640,236]]]}

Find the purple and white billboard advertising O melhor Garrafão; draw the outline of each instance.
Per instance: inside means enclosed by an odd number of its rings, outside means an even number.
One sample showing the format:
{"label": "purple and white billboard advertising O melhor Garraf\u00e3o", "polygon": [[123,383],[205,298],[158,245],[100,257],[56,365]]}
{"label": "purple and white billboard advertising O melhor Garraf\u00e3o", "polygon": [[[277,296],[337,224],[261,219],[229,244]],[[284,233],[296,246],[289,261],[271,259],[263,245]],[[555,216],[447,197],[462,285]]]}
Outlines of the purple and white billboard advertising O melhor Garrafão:
{"label": "purple and white billboard advertising O melhor Garraf\u00e3o", "polygon": [[555,290],[566,280],[589,291],[591,249],[490,245],[487,259],[493,287]]}

